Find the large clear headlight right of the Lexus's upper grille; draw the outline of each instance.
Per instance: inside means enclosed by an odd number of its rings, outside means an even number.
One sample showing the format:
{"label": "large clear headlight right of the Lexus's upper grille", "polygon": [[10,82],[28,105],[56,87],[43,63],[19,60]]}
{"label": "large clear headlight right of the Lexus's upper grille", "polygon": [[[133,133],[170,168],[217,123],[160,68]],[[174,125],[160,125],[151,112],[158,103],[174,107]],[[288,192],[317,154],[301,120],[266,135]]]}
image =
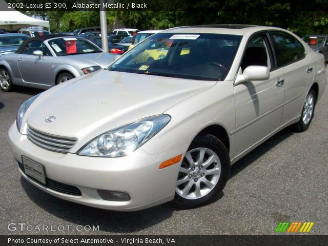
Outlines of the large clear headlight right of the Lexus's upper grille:
{"label": "large clear headlight right of the Lexus's upper grille", "polygon": [[155,115],[116,128],[91,140],[77,154],[120,157],[138,149],[162,130],[171,120],[167,114]]}

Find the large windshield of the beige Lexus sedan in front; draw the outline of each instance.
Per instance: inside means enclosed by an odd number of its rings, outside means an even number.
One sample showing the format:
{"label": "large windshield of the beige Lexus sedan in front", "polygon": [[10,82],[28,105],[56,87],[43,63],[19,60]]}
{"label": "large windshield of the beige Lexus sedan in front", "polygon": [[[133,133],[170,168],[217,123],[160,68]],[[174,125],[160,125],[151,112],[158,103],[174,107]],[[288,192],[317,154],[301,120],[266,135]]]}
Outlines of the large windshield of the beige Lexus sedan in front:
{"label": "large windshield of the beige Lexus sedan in front", "polygon": [[108,70],[200,80],[224,80],[241,36],[158,33],[131,49]]}

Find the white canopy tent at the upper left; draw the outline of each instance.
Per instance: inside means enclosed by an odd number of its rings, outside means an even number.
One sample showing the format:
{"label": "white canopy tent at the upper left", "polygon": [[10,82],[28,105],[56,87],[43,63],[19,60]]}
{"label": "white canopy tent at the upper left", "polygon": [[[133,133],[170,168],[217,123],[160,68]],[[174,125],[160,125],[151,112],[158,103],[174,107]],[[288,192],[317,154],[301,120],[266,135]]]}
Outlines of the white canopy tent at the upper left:
{"label": "white canopy tent at the upper left", "polygon": [[41,26],[49,29],[49,22],[35,19],[18,11],[0,11],[0,28],[16,31],[23,27]]}

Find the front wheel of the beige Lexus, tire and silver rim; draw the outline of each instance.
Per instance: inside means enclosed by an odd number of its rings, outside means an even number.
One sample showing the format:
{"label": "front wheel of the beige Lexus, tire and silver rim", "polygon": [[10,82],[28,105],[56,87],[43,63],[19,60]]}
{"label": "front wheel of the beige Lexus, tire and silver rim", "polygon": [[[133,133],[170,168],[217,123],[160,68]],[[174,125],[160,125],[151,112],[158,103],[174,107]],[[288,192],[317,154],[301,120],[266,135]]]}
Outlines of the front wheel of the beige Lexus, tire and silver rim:
{"label": "front wheel of the beige Lexus, tire and silver rim", "polygon": [[174,205],[190,209],[208,203],[223,190],[229,174],[226,146],[214,135],[197,136],[182,160]]}

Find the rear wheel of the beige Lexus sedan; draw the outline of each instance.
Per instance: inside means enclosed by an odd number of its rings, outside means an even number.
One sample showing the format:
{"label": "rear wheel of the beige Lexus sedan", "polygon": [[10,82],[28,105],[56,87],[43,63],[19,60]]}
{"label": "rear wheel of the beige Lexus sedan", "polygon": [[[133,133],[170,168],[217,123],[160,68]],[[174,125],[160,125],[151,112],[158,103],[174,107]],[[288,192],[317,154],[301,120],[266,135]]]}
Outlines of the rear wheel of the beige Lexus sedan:
{"label": "rear wheel of the beige Lexus sedan", "polygon": [[301,118],[294,126],[294,128],[297,131],[303,132],[309,129],[311,121],[314,116],[315,105],[316,105],[316,93],[313,89],[311,89],[308,95],[306,95]]}

